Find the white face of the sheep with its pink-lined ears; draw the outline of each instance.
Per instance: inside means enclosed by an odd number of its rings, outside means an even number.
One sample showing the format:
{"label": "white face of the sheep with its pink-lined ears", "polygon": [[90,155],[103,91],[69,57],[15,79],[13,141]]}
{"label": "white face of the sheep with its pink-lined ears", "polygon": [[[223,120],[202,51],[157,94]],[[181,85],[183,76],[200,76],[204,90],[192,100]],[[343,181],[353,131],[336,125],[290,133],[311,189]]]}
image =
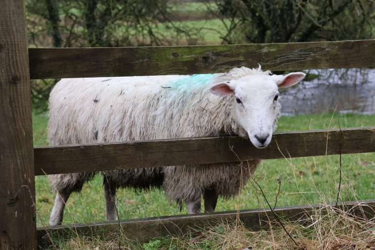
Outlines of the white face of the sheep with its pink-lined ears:
{"label": "white face of the sheep with its pink-lined ears", "polygon": [[215,84],[210,91],[219,96],[228,96],[232,102],[233,119],[246,131],[243,136],[249,136],[254,146],[263,148],[270,144],[280,116],[278,88],[292,86],[304,77],[304,73],[250,75]]}

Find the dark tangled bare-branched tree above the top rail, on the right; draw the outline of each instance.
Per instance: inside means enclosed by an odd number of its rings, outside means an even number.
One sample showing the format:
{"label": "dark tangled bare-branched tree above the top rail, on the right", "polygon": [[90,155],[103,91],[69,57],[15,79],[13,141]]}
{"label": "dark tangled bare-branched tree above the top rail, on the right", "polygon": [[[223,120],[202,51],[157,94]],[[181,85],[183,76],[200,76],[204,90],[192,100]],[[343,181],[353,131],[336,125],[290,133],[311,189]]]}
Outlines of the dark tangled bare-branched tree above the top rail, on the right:
{"label": "dark tangled bare-branched tree above the top rail, on the right", "polygon": [[[216,0],[223,42],[311,42],[374,37],[373,1]],[[229,24],[228,24],[229,20]]]}

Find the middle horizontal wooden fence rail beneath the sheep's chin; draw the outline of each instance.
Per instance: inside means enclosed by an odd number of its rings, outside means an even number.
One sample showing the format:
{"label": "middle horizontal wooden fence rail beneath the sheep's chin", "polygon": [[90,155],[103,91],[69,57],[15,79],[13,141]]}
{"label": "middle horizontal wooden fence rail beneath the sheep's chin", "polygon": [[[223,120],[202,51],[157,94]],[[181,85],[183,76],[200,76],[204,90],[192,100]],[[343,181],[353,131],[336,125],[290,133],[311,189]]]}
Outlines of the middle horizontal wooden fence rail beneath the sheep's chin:
{"label": "middle horizontal wooden fence rail beneath the sheep's chin", "polygon": [[34,149],[35,174],[332,155],[340,153],[341,139],[343,154],[375,151],[375,127],[275,133],[264,149],[240,137],[45,146]]}

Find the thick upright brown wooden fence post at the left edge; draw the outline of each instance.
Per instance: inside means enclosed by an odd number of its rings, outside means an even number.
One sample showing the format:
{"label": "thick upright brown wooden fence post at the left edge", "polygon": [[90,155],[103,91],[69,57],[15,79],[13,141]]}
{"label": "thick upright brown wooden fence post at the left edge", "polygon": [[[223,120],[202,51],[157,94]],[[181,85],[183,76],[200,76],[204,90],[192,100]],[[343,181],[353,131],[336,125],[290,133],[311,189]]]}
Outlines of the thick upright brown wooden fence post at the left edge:
{"label": "thick upright brown wooden fence post at the left edge", "polygon": [[29,63],[23,0],[0,0],[0,249],[36,249]]}

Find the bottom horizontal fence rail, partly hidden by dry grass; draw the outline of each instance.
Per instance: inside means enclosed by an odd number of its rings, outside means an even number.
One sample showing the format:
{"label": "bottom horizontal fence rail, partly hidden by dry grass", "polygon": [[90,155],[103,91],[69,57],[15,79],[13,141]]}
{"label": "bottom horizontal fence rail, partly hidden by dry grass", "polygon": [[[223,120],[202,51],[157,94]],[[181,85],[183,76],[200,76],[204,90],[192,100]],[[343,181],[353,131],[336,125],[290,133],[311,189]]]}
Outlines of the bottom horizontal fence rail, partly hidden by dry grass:
{"label": "bottom horizontal fence rail, partly hidden by dry grass", "polygon": [[[375,200],[339,203],[337,209],[349,211],[360,218],[373,218],[375,215]],[[333,204],[329,205],[333,207]],[[294,207],[275,208],[274,212],[283,217],[284,220],[297,221],[309,218],[309,214],[317,209],[326,209],[327,205],[302,205]],[[335,208],[330,208],[335,209]],[[165,237],[168,235],[183,235],[189,230],[204,229],[220,223],[231,223],[236,220],[237,215],[245,227],[251,230],[269,229],[271,225],[277,225],[270,209],[251,209],[226,212],[205,213],[196,215],[164,216],[146,219],[132,219],[118,222],[101,222],[90,224],[75,224],[68,226],[55,226],[38,228],[38,244],[48,246],[50,244],[46,231],[54,238],[71,238],[78,235],[90,237],[105,236],[116,237],[122,231],[129,240],[140,243],[147,242],[152,238]],[[120,226],[119,226],[120,224]],[[121,228],[121,229],[120,229]]]}

